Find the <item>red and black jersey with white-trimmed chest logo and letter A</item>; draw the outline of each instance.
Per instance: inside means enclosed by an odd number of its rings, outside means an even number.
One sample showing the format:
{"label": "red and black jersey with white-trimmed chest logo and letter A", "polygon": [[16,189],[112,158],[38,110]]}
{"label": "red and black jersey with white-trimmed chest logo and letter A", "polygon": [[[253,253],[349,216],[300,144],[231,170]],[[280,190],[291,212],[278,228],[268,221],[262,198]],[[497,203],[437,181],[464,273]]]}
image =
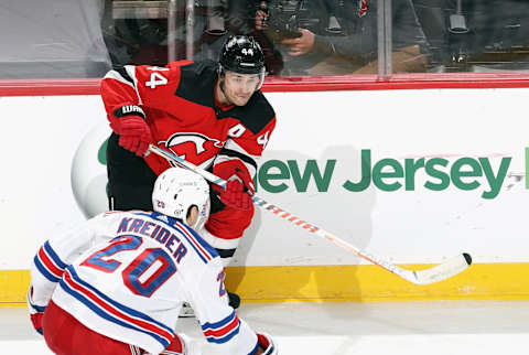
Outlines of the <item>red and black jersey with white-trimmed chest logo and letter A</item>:
{"label": "red and black jersey with white-trimmed chest logo and letter A", "polygon": [[[213,62],[127,65],[105,76],[101,97],[110,121],[141,107],[159,147],[204,169],[240,160],[253,176],[274,129],[276,114],[260,90],[246,106],[219,106],[217,78]],[[144,159],[156,175],[170,166],[154,154]]]}

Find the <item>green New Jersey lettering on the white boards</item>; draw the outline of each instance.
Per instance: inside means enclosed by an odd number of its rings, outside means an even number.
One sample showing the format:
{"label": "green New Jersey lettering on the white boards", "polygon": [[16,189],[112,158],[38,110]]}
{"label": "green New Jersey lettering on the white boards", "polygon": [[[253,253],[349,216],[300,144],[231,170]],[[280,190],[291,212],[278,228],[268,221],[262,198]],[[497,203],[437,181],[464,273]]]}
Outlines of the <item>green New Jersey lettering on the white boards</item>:
{"label": "green New Jersey lettering on the white boards", "polygon": [[[482,198],[492,200],[498,196],[507,176],[512,158],[504,157],[499,166],[494,166],[490,160],[498,158],[469,158],[457,160],[444,158],[404,159],[403,162],[392,158],[373,161],[371,150],[361,150],[361,172],[359,180],[346,180],[339,183],[345,191],[363,192],[373,186],[385,192],[398,190],[444,191],[454,186],[462,191],[482,190]],[[529,149],[526,149],[526,160],[529,160]],[[296,192],[307,191],[311,182],[319,192],[326,192],[337,165],[336,160],[319,162],[316,160],[268,160],[258,171],[258,187],[269,193],[281,193],[288,189]],[[419,175],[425,176],[422,186],[417,186]],[[526,182],[527,184],[527,182]]]}

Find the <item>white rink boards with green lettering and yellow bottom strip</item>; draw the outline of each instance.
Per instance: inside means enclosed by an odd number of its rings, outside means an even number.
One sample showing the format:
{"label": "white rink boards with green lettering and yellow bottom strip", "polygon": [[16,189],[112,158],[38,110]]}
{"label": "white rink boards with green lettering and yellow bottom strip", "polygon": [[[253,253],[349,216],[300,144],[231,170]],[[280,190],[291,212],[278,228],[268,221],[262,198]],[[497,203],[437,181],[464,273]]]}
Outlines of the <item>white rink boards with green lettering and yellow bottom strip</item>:
{"label": "white rink boards with green lettering and yellow bottom strip", "polygon": [[[420,268],[466,251],[475,265],[417,287],[256,211],[228,288],[256,301],[528,299],[528,94],[267,93],[278,126],[260,196],[389,262]],[[96,95],[3,97],[0,108],[10,117],[0,301],[24,302],[37,245],[106,208],[108,128]]]}

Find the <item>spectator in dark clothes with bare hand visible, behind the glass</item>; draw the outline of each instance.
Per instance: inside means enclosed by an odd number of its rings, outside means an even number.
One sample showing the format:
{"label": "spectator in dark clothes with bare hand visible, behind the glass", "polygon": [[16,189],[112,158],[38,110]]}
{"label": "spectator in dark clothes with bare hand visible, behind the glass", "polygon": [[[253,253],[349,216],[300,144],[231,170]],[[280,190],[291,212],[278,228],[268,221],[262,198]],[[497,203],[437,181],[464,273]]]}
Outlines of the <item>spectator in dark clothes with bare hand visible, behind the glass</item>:
{"label": "spectator in dark clothes with bare hand visible, behind the glass", "polygon": [[[279,31],[278,1],[256,12],[256,29],[264,32],[281,53],[280,75],[375,74],[377,63],[377,2],[368,0],[287,1],[296,37]],[[276,2],[273,2],[276,1]],[[392,0],[393,72],[425,72],[427,40],[411,0]],[[264,11],[263,11],[264,10]],[[292,17],[294,15],[294,18]],[[276,15],[276,19],[272,17]],[[294,21],[294,20],[295,21]],[[284,22],[284,21],[283,21]],[[280,25],[283,25],[280,23]],[[285,32],[285,31],[283,31]],[[295,34],[287,34],[294,36]]]}

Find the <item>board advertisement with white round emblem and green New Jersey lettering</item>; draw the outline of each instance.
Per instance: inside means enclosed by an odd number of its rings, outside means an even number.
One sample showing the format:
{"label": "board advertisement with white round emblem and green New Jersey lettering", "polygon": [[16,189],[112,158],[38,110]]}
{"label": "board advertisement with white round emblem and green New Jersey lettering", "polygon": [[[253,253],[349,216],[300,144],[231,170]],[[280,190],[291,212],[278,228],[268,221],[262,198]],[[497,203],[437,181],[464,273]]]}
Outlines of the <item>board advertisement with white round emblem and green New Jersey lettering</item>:
{"label": "board advertisement with white round emblem and green New Jersey lettering", "polygon": [[[110,135],[107,125],[96,127],[77,149],[72,165],[72,189],[86,217],[108,208],[106,196],[106,141]],[[352,178],[338,179],[335,171],[341,161],[269,159],[261,162],[257,176],[257,192],[282,193],[288,190],[306,193],[316,190],[326,193],[330,186],[344,192],[361,193],[368,189],[381,192],[442,192],[455,189],[477,192],[483,200],[494,200],[508,186],[526,180],[529,173],[529,148],[525,149],[526,171],[509,172],[511,157],[419,157],[374,159],[374,150],[363,149]],[[356,176],[356,178],[353,178]]]}

